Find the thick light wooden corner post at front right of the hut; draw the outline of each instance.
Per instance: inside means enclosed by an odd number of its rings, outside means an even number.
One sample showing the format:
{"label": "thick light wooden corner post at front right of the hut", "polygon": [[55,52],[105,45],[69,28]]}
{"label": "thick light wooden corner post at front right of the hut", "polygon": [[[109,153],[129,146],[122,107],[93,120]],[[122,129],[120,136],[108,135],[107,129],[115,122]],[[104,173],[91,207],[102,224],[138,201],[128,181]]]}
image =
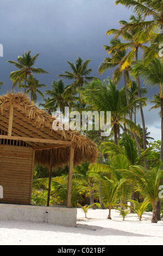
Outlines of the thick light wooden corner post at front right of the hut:
{"label": "thick light wooden corner post at front right of the hut", "polygon": [[73,145],[71,145],[71,147],[70,147],[69,170],[68,170],[67,208],[71,207],[73,159],[74,159],[74,148],[73,148]]}

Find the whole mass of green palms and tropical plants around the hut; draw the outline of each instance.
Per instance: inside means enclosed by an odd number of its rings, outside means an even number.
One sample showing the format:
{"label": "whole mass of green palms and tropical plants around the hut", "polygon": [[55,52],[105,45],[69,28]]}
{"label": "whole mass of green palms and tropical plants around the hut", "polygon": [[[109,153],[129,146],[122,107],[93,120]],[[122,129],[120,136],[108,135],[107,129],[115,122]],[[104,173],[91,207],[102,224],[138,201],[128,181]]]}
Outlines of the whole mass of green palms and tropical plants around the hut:
{"label": "whole mass of green palms and tropical plants around the hut", "polygon": [[[12,89],[23,88],[24,94],[48,114],[65,107],[71,110],[110,112],[111,129],[102,135],[104,123],[90,131],[79,131],[92,139],[99,149],[95,164],[85,162],[74,167],[72,181],[72,207],[85,212],[100,207],[120,211],[123,220],[134,212],[141,221],[143,212],[151,209],[152,222],[161,220],[163,185],[163,43],[162,0],[116,0],[133,11],[129,21],[119,21],[119,28],[108,28],[112,36],[110,45],[104,45],[107,57],[98,66],[99,77],[91,76],[91,59],[78,57],[67,60],[70,71],[63,71],[52,84],[43,84],[35,77],[48,74],[35,68],[39,54],[25,51],[17,62],[8,60],[16,71],[10,73]],[[110,69],[112,76],[100,79]],[[35,75],[35,76],[34,76]],[[122,80],[123,79],[123,80]],[[70,84],[66,84],[69,81]],[[123,82],[122,82],[123,81]],[[123,83],[123,87],[121,86]],[[0,89],[3,83],[0,83]],[[155,86],[153,99],[148,99],[148,86]],[[48,87],[41,92],[43,87]],[[41,102],[39,97],[41,96]],[[150,112],[159,109],[160,140],[151,137],[145,125],[144,107],[151,104]],[[141,124],[137,123],[137,115]],[[92,122],[95,121],[92,119]],[[37,165],[34,170],[32,203],[46,205],[48,191],[48,167]],[[64,205],[67,200],[68,166],[53,169],[50,206]]]}

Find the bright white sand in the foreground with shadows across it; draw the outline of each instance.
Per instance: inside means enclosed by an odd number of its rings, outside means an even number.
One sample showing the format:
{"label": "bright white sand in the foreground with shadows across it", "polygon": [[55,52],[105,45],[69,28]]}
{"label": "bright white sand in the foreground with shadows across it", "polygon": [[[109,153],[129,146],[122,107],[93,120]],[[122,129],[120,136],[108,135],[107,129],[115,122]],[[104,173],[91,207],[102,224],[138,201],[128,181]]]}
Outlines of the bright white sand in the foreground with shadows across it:
{"label": "bright white sand in the foreground with shadows across it", "polygon": [[140,222],[135,214],[122,221],[118,211],[78,209],[77,227],[47,223],[0,221],[0,245],[163,245],[163,221],[151,223],[146,212]]}

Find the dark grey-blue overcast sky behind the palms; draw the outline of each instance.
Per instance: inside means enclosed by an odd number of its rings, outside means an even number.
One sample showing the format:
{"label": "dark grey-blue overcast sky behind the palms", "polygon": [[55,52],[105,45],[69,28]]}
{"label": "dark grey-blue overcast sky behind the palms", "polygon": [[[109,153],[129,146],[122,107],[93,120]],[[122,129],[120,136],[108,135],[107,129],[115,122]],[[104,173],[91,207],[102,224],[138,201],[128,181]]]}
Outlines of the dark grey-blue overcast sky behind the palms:
{"label": "dark grey-blue overcast sky behind the palms", "polygon": [[[78,56],[91,59],[91,75],[97,77],[98,66],[107,57],[102,46],[109,45],[111,39],[106,31],[118,28],[118,21],[128,20],[130,15],[131,10],[115,6],[113,0],[1,0],[0,44],[4,56],[0,57],[0,81],[5,82],[1,94],[11,90],[9,74],[16,70],[6,61],[16,61],[25,50],[31,50],[32,56],[40,53],[35,66],[49,72],[37,76],[47,86],[42,92],[59,79],[57,75],[69,70],[66,60],[74,63]],[[105,71],[100,78],[111,74],[111,70]],[[148,97],[151,99],[157,91],[148,88]],[[146,126],[155,139],[160,139],[158,111],[149,112],[150,107],[144,110]],[[137,122],[141,123],[139,115]]]}

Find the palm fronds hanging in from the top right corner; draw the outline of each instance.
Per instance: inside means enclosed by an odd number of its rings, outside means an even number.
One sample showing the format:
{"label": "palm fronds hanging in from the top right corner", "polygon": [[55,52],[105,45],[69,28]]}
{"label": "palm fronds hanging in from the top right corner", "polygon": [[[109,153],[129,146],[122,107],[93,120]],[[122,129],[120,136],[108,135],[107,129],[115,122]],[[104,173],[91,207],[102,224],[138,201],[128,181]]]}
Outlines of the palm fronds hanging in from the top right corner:
{"label": "palm fronds hanging in from the top right corner", "polygon": [[[137,29],[137,41],[142,44],[144,41],[149,41],[149,47],[143,46],[143,58],[147,62],[154,57],[158,57],[159,45],[163,42],[163,3],[162,0],[116,0],[115,4],[123,4],[127,8],[133,9],[134,13],[140,14],[142,20],[135,24],[127,24],[125,29],[132,31]],[[152,20],[146,20],[147,16],[152,16]]]}

